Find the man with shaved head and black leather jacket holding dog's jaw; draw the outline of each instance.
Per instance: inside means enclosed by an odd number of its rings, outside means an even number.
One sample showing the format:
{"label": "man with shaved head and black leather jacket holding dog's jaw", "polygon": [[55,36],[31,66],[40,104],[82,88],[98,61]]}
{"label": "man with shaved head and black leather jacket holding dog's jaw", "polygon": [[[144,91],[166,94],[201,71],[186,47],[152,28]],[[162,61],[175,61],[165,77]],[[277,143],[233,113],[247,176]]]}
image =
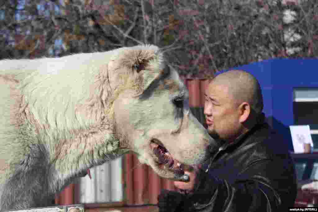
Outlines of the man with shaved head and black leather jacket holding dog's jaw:
{"label": "man with shaved head and black leather jacket holding dog's jaw", "polygon": [[297,178],[286,141],[265,121],[260,85],[250,73],[232,70],[212,79],[204,115],[218,151],[203,166],[162,190],[159,211],[287,211]]}

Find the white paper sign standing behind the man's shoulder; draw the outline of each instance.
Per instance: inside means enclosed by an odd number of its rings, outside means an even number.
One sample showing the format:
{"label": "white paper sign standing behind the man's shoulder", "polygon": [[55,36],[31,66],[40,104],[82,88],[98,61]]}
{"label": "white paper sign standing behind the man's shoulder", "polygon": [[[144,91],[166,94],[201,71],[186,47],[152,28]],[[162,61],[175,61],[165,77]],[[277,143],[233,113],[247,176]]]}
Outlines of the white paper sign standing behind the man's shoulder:
{"label": "white paper sign standing behind the man's shoulder", "polygon": [[311,148],[314,147],[309,125],[291,125],[289,128],[295,153],[304,153],[304,144],[310,144]]}

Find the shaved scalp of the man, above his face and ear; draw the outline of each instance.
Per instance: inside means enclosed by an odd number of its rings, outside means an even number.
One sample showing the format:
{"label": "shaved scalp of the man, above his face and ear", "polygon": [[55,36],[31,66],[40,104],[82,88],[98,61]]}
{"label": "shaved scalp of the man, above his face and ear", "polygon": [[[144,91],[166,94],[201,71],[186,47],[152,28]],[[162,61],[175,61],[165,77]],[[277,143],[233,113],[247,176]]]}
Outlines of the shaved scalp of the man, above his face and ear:
{"label": "shaved scalp of the man, above his face and ear", "polygon": [[232,70],[219,74],[211,83],[226,87],[237,104],[247,102],[256,114],[262,112],[262,91],[258,80],[252,74],[243,70]]}

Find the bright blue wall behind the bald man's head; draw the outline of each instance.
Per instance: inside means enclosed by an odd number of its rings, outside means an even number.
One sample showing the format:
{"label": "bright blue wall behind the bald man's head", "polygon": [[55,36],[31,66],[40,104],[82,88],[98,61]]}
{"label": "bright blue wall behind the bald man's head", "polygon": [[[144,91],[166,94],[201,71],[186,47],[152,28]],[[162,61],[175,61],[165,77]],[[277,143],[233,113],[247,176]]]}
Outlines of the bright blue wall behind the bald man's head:
{"label": "bright blue wall behind the bald man's head", "polygon": [[[317,59],[271,59],[242,65],[259,80],[264,98],[264,113],[273,128],[285,135],[293,150],[289,126],[294,124],[294,88],[318,87]],[[317,117],[318,118],[318,117]]]}

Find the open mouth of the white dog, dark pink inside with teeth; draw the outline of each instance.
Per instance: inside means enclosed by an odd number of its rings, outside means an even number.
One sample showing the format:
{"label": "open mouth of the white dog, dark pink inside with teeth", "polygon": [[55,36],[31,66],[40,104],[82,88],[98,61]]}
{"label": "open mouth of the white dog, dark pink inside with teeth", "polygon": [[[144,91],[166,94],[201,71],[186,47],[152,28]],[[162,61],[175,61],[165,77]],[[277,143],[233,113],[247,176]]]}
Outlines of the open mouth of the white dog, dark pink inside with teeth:
{"label": "open mouth of the white dog, dark pink inside with teeth", "polygon": [[151,140],[150,146],[154,154],[158,158],[157,163],[160,167],[164,166],[166,168],[172,169],[174,172],[177,172],[178,174],[184,174],[184,164],[174,159],[169,153],[169,151],[163,146],[163,144],[159,140]]}

